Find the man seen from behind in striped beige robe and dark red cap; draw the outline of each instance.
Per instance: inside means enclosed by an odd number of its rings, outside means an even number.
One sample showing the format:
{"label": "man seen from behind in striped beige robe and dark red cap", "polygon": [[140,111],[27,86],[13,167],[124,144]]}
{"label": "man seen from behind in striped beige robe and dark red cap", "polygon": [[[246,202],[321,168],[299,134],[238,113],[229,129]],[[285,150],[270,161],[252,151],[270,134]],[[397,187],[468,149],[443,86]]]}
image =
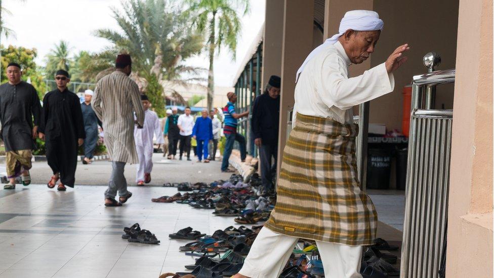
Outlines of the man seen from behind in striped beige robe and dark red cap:
{"label": "man seen from behind in striped beige robe and dark red cap", "polygon": [[[134,126],[142,128],[144,110],[137,84],[129,78],[132,61],[130,55],[119,54],[115,71],[101,78],[91,101],[98,118],[103,122],[105,146],[110,156],[112,173],[105,191],[105,206],[116,207],[132,196],[127,191],[127,181],[123,176],[126,163],[137,164]],[[137,120],[134,120],[134,113]],[[118,191],[119,202],[115,200]]]}

